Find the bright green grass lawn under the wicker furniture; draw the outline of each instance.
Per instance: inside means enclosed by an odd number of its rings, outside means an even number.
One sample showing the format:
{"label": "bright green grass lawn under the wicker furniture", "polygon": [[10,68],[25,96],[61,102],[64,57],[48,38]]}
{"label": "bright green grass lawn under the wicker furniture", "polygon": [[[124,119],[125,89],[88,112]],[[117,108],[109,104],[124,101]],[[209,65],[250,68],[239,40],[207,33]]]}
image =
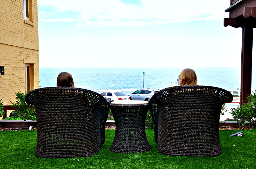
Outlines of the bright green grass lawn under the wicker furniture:
{"label": "bright green grass lawn under the wicker furniture", "polygon": [[[241,130],[220,130],[222,153],[215,157],[166,156],[159,153],[154,130],[146,129],[152,150],[119,154],[109,151],[115,130],[106,130],[106,141],[91,157],[38,158],[35,156],[37,130],[0,131],[0,169],[12,168],[256,168],[255,130],[243,130],[242,137],[229,137]],[[79,161],[77,161],[79,159]]]}

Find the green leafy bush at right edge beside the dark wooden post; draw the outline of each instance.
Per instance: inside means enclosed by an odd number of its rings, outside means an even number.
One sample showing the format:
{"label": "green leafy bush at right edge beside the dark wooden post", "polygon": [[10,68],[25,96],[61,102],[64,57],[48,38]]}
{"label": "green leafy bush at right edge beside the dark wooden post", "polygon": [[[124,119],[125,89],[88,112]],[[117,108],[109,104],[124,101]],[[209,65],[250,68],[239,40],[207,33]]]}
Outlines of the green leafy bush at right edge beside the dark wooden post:
{"label": "green leafy bush at right edge beside the dark wooden post", "polygon": [[231,114],[240,126],[245,126],[245,122],[248,121],[249,124],[247,125],[253,127],[256,123],[256,94],[252,91],[252,94],[247,96],[247,99],[247,103],[239,105],[237,108],[232,108]]}

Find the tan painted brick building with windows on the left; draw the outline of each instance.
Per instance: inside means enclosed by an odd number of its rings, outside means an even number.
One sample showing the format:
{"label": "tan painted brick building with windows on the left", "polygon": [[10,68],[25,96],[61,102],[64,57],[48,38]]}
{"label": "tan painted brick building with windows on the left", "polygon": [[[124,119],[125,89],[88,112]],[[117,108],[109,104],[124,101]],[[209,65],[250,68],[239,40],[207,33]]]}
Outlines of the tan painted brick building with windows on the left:
{"label": "tan painted brick building with windows on the left", "polygon": [[0,99],[16,102],[15,93],[39,88],[37,0],[0,1]]}

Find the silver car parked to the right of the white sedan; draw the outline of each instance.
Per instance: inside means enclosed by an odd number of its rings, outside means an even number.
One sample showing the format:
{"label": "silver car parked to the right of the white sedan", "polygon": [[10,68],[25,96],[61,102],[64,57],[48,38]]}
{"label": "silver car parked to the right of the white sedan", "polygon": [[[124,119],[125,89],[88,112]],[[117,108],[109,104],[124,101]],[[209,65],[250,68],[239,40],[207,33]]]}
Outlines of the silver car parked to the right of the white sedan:
{"label": "silver car parked to the right of the white sedan", "polygon": [[148,101],[150,98],[157,93],[158,89],[139,89],[135,92],[127,94],[131,97],[131,100],[145,100]]}

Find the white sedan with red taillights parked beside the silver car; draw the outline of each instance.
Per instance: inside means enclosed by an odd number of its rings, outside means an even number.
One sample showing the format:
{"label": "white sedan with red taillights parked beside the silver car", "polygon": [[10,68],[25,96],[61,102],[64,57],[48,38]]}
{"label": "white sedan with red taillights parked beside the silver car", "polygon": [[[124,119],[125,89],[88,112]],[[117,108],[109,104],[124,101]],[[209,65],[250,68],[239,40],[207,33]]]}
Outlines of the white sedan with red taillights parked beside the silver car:
{"label": "white sedan with red taillights parked beside the silver car", "polygon": [[105,98],[111,98],[111,101],[130,100],[130,96],[127,96],[121,91],[106,91],[102,92],[101,95]]}

